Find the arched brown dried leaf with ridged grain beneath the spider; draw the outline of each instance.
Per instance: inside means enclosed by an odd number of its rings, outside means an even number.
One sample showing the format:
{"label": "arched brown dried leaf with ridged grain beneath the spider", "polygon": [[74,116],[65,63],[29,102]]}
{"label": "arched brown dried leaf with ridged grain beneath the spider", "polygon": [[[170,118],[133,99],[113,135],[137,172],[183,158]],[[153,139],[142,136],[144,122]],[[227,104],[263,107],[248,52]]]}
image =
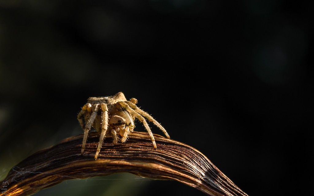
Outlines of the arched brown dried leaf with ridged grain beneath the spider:
{"label": "arched brown dried leaf with ridged grain beneath the spider", "polygon": [[89,134],[83,156],[80,155],[83,135],[64,139],[14,166],[3,180],[8,186],[1,195],[26,196],[68,179],[129,172],[152,179],[176,180],[208,195],[247,196],[198,150],[154,136],[157,149],[143,132],[130,133],[123,144],[105,139],[97,160],[94,156],[98,133]]}

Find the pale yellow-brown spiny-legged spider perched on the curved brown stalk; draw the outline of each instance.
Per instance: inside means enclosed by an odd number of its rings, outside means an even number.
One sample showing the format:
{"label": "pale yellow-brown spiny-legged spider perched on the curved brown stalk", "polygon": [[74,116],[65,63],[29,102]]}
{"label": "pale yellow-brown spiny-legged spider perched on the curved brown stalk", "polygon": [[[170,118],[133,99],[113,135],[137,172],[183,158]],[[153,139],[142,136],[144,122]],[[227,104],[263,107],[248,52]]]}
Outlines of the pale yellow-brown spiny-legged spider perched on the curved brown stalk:
{"label": "pale yellow-brown spiny-legged spider perched on the curved brown stalk", "polygon": [[[89,97],[87,103],[82,107],[81,112],[78,113],[78,122],[80,123],[82,129],[84,129],[81,155],[83,155],[87,136],[91,127],[95,128],[96,131],[100,133],[99,143],[95,154],[96,160],[103,140],[107,136],[112,136],[113,143],[117,144],[119,140],[118,135],[120,134],[122,136],[120,141],[122,143],[126,142],[127,135],[135,128],[135,118],[143,123],[152,139],[155,149],[157,146],[154,135],[150,130],[145,118],[160,128],[167,138],[170,138],[165,128],[163,128],[160,123],[157,122],[148,113],[139,109],[136,106],[136,103],[137,99],[135,98],[127,101],[122,92],[108,97]],[[83,123],[83,117],[85,120],[85,126]]]}

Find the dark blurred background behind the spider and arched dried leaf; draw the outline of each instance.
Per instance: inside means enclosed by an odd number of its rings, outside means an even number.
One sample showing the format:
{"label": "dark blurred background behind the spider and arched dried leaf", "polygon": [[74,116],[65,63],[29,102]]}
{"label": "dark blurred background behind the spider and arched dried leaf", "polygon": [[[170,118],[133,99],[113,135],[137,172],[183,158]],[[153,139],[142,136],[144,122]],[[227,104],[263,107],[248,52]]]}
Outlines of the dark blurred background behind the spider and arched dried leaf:
{"label": "dark blurred background behind the spider and arched dried leaf", "polygon": [[[32,153],[83,133],[76,117],[88,97],[122,91],[248,195],[305,194],[313,6],[0,0],[0,179]],[[139,122],[135,130],[145,131]],[[205,195],[128,174],[35,195],[86,193]]]}

